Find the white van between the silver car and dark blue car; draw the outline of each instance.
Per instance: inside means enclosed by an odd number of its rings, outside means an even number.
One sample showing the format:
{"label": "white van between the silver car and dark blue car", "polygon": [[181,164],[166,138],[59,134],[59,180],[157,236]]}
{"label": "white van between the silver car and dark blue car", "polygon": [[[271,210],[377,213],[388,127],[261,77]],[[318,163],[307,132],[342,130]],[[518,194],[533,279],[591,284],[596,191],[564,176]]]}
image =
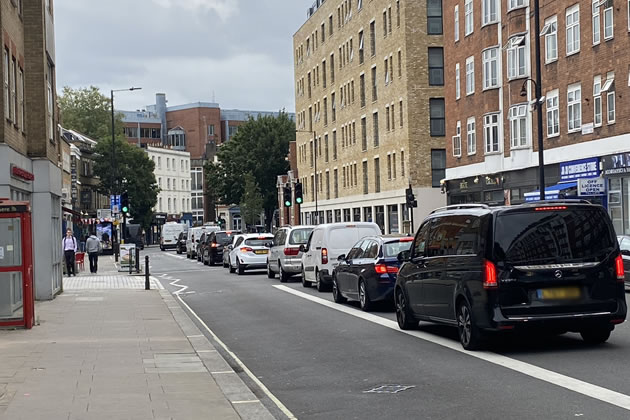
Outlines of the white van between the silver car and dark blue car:
{"label": "white van between the silver car and dark blue car", "polygon": [[302,285],[315,283],[320,292],[332,285],[332,271],[339,263],[337,257],[347,254],[352,245],[366,236],[381,235],[376,223],[327,223],[313,229],[302,251]]}

